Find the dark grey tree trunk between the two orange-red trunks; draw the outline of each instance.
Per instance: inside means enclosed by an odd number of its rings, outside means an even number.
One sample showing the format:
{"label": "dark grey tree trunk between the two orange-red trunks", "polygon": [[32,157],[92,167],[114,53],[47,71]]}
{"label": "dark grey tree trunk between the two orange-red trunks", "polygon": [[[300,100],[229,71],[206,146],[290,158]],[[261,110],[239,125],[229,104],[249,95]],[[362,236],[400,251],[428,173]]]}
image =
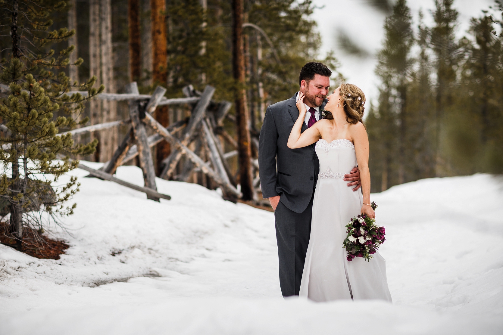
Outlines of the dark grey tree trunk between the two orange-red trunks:
{"label": "dark grey tree trunk between the two orange-red trunks", "polygon": [[152,25],[150,0],[141,0],[141,85],[152,85]]}

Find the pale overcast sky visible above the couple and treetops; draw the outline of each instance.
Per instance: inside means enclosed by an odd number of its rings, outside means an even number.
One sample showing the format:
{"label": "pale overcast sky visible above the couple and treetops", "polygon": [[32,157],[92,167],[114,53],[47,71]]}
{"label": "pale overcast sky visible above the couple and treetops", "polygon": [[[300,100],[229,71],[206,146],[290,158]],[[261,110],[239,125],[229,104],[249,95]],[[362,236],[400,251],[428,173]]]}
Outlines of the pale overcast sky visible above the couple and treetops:
{"label": "pale overcast sky visible above the couple and treetops", "polygon": [[[327,51],[335,51],[336,57],[341,62],[340,71],[348,78],[347,82],[360,87],[367,100],[375,100],[379,85],[379,79],[374,73],[375,57],[360,58],[345,54],[338,47],[337,32],[339,29],[344,29],[361,48],[374,55],[382,45],[384,14],[369,6],[365,0],[314,0],[314,4],[318,8],[314,11],[313,17],[318,23],[318,30],[323,40],[321,58]],[[454,8],[459,12],[457,36],[465,35],[470,18],[481,16],[481,10],[487,10],[492,4],[494,4],[492,0],[455,0]],[[407,1],[407,5],[412,11],[414,28],[417,27],[420,10],[424,13],[425,24],[432,25],[430,10],[435,7],[434,0]]]}

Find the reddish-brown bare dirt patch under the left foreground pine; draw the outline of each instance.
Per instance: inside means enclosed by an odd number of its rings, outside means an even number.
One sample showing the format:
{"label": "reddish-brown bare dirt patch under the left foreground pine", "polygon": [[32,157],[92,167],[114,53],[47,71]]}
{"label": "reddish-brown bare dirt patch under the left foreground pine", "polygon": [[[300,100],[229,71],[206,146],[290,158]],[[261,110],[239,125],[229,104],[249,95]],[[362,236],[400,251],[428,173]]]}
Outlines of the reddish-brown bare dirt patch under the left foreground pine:
{"label": "reddish-brown bare dirt patch under the left foreground pine", "polygon": [[[16,239],[9,233],[9,224],[0,222],[0,242],[16,248]],[[21,252],[43,259],[59,260],[70,246],[62,240],[52,239],[37,230],[24,228]]]}

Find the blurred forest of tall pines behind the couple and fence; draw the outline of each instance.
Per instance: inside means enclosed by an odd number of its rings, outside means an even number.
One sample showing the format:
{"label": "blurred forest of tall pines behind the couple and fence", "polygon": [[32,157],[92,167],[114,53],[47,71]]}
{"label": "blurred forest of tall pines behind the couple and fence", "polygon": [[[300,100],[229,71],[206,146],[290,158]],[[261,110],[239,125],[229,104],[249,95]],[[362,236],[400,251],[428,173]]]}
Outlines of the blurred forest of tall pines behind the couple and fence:
{"label": "blurred forest of tall pines behind the couple and fence", "polygon": [[[452,0],[436,1],[432,13],[423,13],[433,16],[431,26],[414,18],[420,22],[417,29],[405,1],[369,4],[387,15],[385,40],[377,54],[376,73],[382,85],[378,100],[367,105],[365,119],[372,191],[421,178],[502,173],[501,18],[480,13],[472,18],[466,36],[458,39],[454,34],[458,13]],[[53,29],[76,30],[68,44],[76,45],[72,57],[81,57],[83,63],[78,70],[65,69],[67,74],[79,81],[96,75],[105,92],[124,93],[124,86],[136,80],[140,93],[152,93],[156,85],[162,85],[167,88],[166,97],[176,98],[183,96],[187,85],[198,91],[211,85],[216,88],[214,99],[234,102],[236,92],[245,89],[249,132],[257,138],[267,106],[297,92],[298,72],[304,63],[327,64],[333,71],[334,87],[344,76],[333,53],[319,54],[321,39],[312,17],[315,2],[244,0],[243,5],[243,22],[264,33],[243,28],[244,87],[233,78],[231,1],[69,0],[64,11],[55,13]],[[131,10],[135,6],[137,10]],[[160,26],[155,26],[159,20],[152,20],[152,7],[161,9]],[[501,13],[503,3],[495,1],[492,10]],[[135,22],[139,29],[137,42],[132,44]],[[0,42],[8,38],[0,37]],[[358,53],[355,39],[347,37],[341,47]],[[51,47],[57,52],[68,44]],[[3,49],[0,57],[8,53]],[[166,115],[165,124],[190,115],[189,106],[159,110],[156,113]],[[127,113],[125,103],[93,101],[82,117],[89,116],[96,124],[125,119]],[[236,141],[235,118],[226,119],[224,128]],[[119,127],[107,134],[77,138],[100,141],[93,156],[81,158],[107,161],[127,130]],[[236,145],[231,140],[225,146],[230,151]],[[157,163],[166,150],[169,147],[157,148]],[[239,181],[237,156],[229,162]],[[192,181],[211,187],[201,173],[195,173]]]}

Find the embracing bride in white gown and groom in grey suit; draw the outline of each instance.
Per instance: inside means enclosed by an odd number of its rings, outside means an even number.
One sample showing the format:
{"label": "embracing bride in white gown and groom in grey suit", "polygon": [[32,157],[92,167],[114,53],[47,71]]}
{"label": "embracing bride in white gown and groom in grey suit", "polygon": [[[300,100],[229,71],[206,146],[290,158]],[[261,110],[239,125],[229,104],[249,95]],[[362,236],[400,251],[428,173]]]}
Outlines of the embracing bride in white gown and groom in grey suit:
{"label": "embracing bride in white gown and groom in grey suit", "polygon": [[281,292],[314,301],[391,301],[379,252],[370,262],[346,260],[349,219],[375,217],[369,141],[365,95],[343,83],[325,99],[330,75],[322,63],[305,64],[299,92],[267,108],[260,132],[260,180],[275,210]]}

